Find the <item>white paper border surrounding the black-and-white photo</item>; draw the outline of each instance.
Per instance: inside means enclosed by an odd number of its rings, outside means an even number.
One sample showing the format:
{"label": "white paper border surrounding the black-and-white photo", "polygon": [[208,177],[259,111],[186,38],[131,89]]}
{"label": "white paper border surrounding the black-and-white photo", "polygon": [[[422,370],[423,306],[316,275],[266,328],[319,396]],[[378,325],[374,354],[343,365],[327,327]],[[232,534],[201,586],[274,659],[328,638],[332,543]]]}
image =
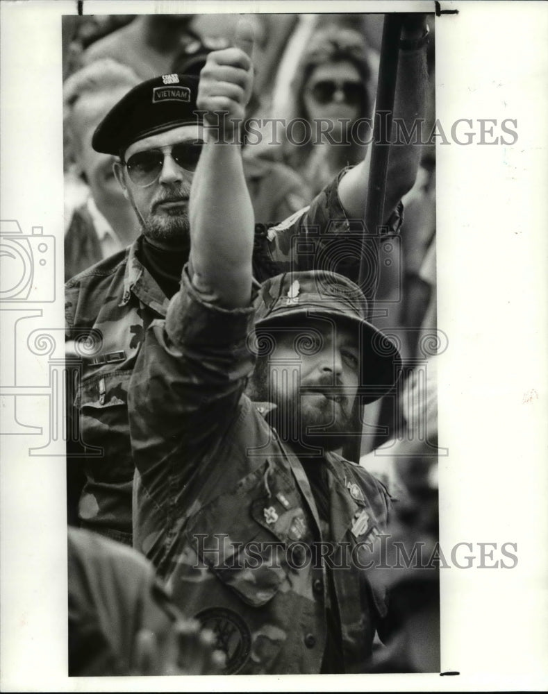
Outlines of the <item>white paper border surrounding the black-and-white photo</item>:
{"label": "white paper border surrounding the black-and-white photo", "polygon": [[[517,543],[512,570],[442,570],[440,675],[68,679],[65,463],[30,457],[31,437],[0,441],[2,691],[443,691],[548,686],[547,257],[548,6],[442,2],[436,19],[437,117],[517,119],[513,146],[438,145],[438,366],[441,544]],[[86,14],[208,11],[383,11],[386,3],[91,2]],[[390,11],[433,11],[392,2]],[[56,244],[54,304],[63,326],[61,24],[76,2],[0,3],[1,219]],[[447,127],[446,127],[447,126]],[[476,133],[479,124],[471,128]],[[500,134],[499,128],[495,128]],[[449,136],[449,135],[448,135]],[[1,382],[13,325],[1,312]],[[28,382],[38,359],[26,344]],[[20,362],[19,362],[20,363]],[[527,401],[527,393],[536,397]],[[19,398],[22,421],[47,427],[46,398]],[[2,403],[2,412],[4,403]],[[499,551],[495,557],[500,558]],[[477,566],[478,561],[474,562]]]}

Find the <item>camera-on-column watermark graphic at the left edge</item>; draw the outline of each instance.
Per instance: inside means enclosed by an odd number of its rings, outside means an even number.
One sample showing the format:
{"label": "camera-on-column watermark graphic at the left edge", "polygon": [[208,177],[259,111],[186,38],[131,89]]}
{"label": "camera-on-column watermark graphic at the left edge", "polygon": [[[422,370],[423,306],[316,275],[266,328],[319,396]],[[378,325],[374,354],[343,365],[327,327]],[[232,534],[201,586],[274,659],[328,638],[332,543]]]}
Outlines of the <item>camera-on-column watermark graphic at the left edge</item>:
{"label": "camera-on-column watermark graphic at the left edge", "polygon": [[[64,457],[67,444],[77,443],[82,452],[73,455],[100,457],[103,449],[85,443],[79,419],[66,413],[77,397],[85,360],[101,352],[102,335],[94,328],[74,330],[67,344],[64,328],[43,325],[44,304],[56,301],[55,255],[56,239],[41,226],[26,234],[17,220],[0,222],[0,435],[40,437],[28,448],[31,456]],[[29,407],[44,401],[40,412]]]}

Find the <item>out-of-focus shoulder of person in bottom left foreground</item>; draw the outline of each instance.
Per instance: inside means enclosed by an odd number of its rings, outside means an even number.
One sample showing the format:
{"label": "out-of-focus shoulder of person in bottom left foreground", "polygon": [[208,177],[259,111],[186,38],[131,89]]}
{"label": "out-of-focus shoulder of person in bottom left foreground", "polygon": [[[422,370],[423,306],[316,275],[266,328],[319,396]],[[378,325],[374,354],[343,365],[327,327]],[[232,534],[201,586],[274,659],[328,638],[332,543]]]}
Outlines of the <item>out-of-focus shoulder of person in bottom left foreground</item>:
{"label": "out-of-focus shoulder of person in bottom left foreground", "polygon": [[142,555],[68,530],[69,676],[215,675],[213,634],[185,620]]}

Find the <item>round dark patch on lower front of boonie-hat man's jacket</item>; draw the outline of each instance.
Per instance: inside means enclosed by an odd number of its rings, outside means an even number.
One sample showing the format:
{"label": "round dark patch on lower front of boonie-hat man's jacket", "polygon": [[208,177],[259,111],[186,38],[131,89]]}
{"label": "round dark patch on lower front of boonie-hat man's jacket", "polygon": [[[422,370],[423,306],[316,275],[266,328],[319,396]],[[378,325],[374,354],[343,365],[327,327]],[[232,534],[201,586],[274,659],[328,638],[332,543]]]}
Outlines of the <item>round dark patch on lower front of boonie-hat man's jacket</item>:
{"label": "round dark patch on lower front of boonie-hat man's jacket", "polygon": [[227,607],[208,607],[196,616],[204,629],[215,634],[215,648],[226,655],[224,673],[238,672],[249,657],[251,632],[249,627],[234,610]]}

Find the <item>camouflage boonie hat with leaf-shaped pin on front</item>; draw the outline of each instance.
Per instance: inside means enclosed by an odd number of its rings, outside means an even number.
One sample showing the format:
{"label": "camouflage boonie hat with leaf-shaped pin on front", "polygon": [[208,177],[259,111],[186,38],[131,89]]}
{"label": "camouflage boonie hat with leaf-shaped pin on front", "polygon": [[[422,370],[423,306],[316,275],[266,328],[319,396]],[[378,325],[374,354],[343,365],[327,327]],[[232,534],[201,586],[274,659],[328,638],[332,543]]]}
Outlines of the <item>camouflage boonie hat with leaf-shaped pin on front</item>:
{"label": "camouflage boonie hat with leaf-shaped pin on front", "polygon": [[365,320],[367,299],[354,282],[325,271],[289,272],[265,280],[255,302],[255,330],[283,328],[315,316],[355,325],[361,347],[360,396],[363,405],[378,400],[396,384],[401,373],[397,346]]}

